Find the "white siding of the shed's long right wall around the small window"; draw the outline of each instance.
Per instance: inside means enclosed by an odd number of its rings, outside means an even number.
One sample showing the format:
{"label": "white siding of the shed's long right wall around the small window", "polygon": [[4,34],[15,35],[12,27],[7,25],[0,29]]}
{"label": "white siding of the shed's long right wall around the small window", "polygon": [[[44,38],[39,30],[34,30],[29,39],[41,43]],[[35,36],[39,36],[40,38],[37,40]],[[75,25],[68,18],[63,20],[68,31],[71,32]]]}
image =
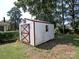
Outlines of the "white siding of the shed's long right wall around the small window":
{"label": "white siding of the shed's long right wall around the small window", "polygon": [[[48,31],[46,32],[46,25]],[[54,38],[54,26],[52,24],[35,22],[35,44],[39,45]]]}

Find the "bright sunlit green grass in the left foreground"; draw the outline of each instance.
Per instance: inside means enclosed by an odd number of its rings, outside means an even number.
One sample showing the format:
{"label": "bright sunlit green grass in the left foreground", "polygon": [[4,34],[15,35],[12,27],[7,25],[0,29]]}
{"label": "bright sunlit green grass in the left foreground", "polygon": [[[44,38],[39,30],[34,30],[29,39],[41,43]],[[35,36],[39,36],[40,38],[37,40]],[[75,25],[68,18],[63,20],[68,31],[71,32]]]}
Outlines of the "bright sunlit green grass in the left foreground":
{"label": "bright sunlit green grass in the left foreground", "polygon": [[0,59],[25,59],[24,46],[15,43],[0,45]]}

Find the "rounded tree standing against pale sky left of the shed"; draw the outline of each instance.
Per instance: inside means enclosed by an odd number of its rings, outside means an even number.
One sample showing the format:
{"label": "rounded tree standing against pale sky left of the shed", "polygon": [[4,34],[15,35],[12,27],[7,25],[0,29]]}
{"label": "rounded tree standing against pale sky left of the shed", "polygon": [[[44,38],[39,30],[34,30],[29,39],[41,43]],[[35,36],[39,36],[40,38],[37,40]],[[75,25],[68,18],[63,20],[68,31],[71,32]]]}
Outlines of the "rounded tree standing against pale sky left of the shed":
{"label": "rounded tree standing against pale sky left of the shed", "polygon": [[22,16],[21,11],[17,7],[13,7],[7,12],[7,15],[10,16],[10,21],[15,24],[15,29],[18,28]]}

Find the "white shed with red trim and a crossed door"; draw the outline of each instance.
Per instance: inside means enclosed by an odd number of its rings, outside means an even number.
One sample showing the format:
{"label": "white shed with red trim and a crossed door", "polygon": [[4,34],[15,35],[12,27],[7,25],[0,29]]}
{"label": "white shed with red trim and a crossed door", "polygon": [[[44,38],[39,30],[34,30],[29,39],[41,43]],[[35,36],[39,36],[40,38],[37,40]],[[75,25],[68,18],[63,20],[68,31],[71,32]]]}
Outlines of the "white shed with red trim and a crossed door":
{"label": "white shed with red trim and a crossed door", "polygon": [[54,25],[46,21],[22,19],[20,41],[36,46],[54,38]]}

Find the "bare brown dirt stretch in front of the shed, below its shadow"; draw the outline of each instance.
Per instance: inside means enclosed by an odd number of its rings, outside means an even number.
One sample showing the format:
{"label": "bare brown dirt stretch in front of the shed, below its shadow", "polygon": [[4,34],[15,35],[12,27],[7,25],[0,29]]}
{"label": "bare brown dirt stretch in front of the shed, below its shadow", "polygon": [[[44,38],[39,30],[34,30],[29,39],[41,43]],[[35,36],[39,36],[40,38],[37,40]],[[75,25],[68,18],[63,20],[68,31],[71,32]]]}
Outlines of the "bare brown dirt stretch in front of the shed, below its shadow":
{"label": "bare brown dirt stretch in front of the shed, below its shadow", "polygon": [[72,44],[58,44],[51,50],[28,46],[27,59],[74,59],[75,49]]}

